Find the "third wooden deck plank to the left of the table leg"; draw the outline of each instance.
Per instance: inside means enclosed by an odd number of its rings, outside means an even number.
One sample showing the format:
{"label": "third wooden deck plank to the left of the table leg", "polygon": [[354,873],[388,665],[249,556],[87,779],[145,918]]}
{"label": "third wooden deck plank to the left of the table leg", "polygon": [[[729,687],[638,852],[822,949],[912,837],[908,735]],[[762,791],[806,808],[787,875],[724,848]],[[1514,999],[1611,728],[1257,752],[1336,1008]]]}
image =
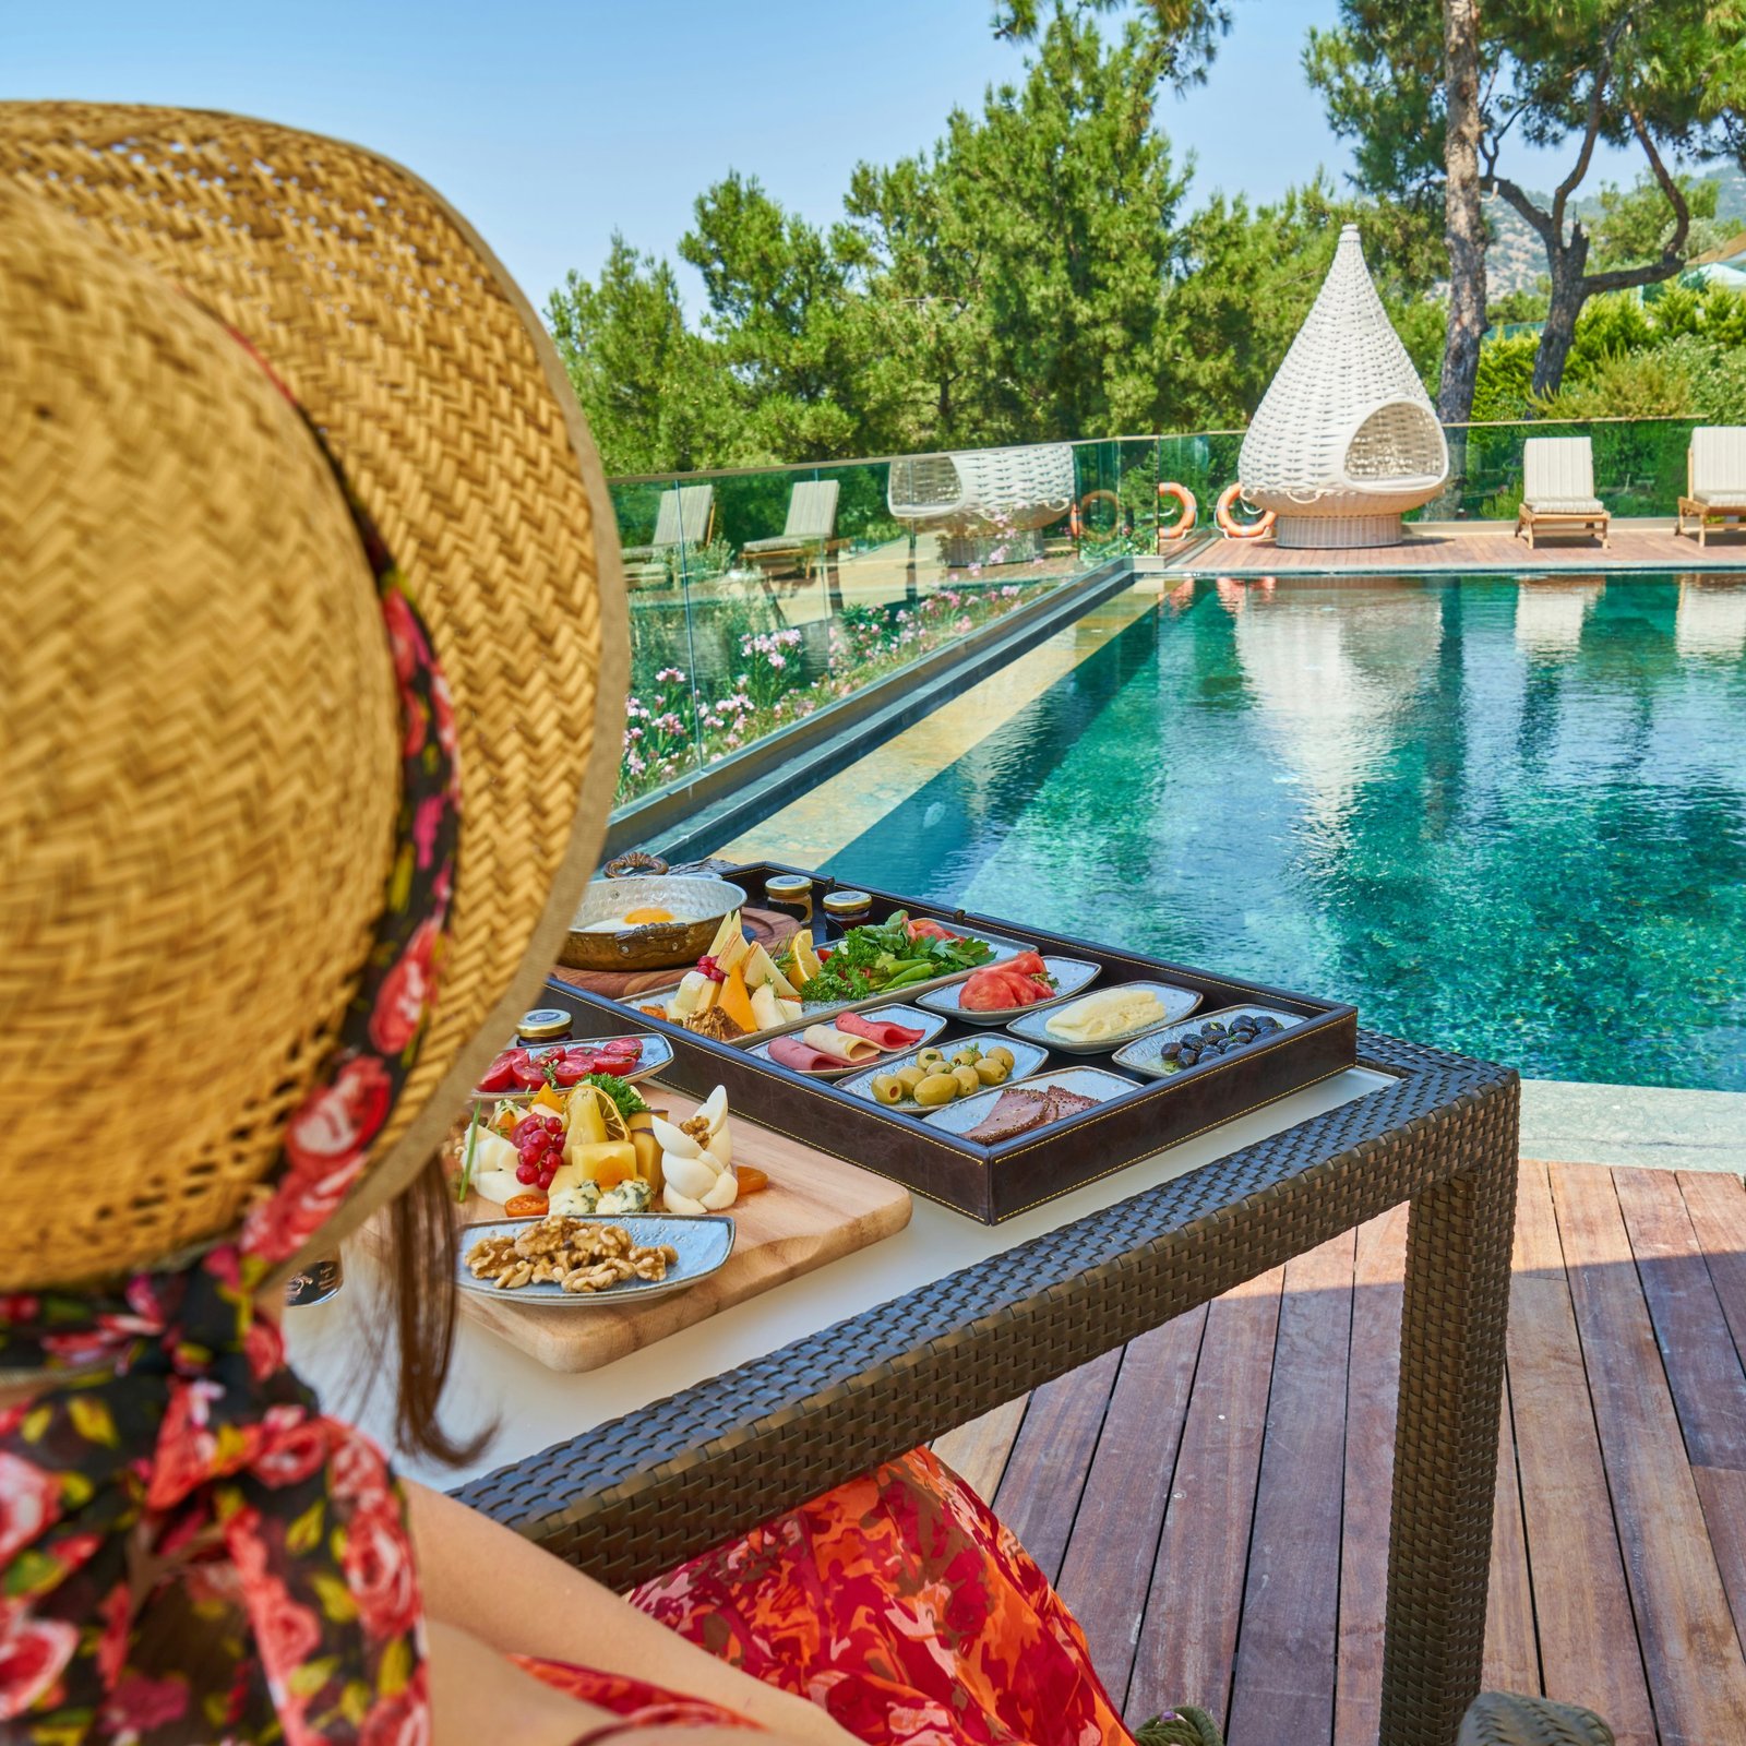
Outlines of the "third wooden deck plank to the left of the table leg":
{"label": "third wooden deck plank to the left of the table leg", "polygon": [[1283,1283],[1275,1268],[1208,1306],[1123,1706],[1130,1723],[1200,1704],[1224,1725]]}

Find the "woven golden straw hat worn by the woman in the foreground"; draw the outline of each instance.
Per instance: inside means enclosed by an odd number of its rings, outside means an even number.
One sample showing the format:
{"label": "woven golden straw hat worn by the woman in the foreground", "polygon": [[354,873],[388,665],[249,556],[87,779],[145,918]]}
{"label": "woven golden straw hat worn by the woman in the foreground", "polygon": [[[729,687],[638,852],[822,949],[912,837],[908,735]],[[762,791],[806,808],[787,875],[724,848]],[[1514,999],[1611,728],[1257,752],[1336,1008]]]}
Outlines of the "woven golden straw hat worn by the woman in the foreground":
{"label": "woven golden straw hat worn by the woman in the foreground", "polygon": [[0,105],[0,1290],[234,1229],[363,967],[398,716],[325,435],[454,698],[435,1011],[323,1245],[555,962],[627,684],[599,463],[471,229],[356,147]]}

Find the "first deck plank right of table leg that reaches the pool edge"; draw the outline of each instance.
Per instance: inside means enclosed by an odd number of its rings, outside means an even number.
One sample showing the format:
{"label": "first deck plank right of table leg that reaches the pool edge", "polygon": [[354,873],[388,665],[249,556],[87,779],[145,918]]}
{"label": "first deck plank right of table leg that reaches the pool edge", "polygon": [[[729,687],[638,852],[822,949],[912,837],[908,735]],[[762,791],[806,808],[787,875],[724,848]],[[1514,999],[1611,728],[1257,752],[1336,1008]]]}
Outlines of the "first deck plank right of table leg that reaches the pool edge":
{"label": "first deck plank right of table leg that reaches the pool edge", "polygon": [[1510,1409],[1545,1695],[1598,1711],[1620,1746],[1653,1746],[1655,1715],[1543,1165],[1523,1165],[1514,1266]]}

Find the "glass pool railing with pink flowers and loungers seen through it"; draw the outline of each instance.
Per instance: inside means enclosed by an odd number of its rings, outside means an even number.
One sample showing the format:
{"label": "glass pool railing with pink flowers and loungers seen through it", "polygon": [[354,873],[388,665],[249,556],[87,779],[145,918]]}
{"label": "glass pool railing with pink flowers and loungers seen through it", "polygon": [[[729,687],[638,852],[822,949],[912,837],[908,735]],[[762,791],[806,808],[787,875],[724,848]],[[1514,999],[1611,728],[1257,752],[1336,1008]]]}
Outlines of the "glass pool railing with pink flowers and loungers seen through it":
{"label": "glass pool railing with pink flowers and loungers seen through it", "polygon": [[[1512,519],[1528,436],[1589,435],[1615,515],[1671,515],[1692,421],[1451,428],[1419,515]],[[911,665],[1177,524],[1212,527],[1241,431],[1116,436],[609,482],[630,585],[618,807]]]}

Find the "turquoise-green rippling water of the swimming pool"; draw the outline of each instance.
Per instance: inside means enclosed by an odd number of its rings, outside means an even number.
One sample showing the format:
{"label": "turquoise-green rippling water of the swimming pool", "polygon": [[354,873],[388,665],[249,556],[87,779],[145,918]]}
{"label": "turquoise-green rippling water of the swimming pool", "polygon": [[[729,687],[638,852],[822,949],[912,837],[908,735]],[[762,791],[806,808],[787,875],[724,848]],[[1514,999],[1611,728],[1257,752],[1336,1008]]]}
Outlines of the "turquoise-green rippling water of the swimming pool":
{"label": "turquoise-green rippling water of the swimming pool", "polygon": [[1184,583],[831,870],[1746,1091],[1746,578]]}

